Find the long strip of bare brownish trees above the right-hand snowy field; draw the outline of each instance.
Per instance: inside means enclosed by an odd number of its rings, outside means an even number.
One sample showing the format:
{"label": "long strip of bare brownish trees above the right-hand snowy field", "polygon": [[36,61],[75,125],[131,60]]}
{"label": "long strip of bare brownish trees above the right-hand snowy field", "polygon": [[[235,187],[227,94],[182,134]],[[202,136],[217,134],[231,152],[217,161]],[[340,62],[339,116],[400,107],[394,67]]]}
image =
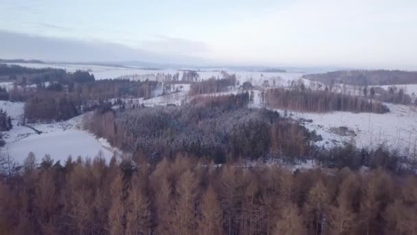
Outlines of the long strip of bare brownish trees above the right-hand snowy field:
{"label": "long strip of bare brownish trees above the right-hand snowy field", "polygon": [[360,96],[350,96],[329,91],[310,89],[267,89],[265,104],[276,109],[291,109],[309,112],[351,111],[386,113],[388,107],[377,101]]}

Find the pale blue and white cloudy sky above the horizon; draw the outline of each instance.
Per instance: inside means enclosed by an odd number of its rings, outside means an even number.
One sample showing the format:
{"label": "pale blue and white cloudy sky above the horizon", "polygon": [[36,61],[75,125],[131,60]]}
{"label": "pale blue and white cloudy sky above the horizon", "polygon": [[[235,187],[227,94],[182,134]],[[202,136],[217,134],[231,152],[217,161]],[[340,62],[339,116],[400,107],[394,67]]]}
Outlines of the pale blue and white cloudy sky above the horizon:
{"label": "pale blue and white cloudy sky above the horizon", "polygon": [[0,57],[417,69],[415,0],[0,0]]}

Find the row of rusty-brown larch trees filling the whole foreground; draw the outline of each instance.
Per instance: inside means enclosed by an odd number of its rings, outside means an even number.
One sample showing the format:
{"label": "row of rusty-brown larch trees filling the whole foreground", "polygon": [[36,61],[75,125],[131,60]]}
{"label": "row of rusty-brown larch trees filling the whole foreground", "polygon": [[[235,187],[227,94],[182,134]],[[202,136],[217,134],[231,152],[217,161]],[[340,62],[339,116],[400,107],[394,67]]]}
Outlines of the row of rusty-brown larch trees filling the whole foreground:
{"label": "row of rusty-brown larch trees filling the whole foreground", "polygon": [[215,166],[184,156],[27,157],[0,181],[4,234],[416,234],[417,177]]}

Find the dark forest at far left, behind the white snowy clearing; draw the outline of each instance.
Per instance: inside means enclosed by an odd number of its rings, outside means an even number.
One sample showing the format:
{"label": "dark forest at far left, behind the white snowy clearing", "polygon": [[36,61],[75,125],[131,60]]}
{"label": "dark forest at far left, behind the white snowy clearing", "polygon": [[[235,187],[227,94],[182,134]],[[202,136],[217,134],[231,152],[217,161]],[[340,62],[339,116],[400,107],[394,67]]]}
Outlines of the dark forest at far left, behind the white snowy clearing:
{"label": "dark forest at far left, behind the white snowy clearing", "polygon": [[156,81],[95,80],[88,71],[19,65],[0,64],[0,76],[14,82],[10,91],[0,88],[0,99],[25,102],[25,122],[68,120],[108,102],[121,104],[121,98],[151,98],[161,86]]}

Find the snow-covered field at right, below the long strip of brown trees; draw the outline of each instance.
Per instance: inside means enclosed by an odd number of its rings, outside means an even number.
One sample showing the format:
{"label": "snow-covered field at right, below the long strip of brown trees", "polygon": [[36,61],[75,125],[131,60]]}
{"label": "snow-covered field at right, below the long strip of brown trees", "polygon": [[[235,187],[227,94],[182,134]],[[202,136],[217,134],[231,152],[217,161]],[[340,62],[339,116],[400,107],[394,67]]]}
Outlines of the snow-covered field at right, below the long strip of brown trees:
{"label": "snow-covered field at right, below the long strip of brown trees", "polygon": [[[318,144],[327,148],[348,142],[355,143],[359,148],[375,148],[385,144],[400,153],[412,154],[417,144],[416,109],[398,104],[386,105],[390,113],[287,113],[309,130],[322,135],[323,140]],[[283,110],[277,111],[284,113]],[[343,126],[347,128],[344,129],[346,131],[337,132],[337,128]]]}

